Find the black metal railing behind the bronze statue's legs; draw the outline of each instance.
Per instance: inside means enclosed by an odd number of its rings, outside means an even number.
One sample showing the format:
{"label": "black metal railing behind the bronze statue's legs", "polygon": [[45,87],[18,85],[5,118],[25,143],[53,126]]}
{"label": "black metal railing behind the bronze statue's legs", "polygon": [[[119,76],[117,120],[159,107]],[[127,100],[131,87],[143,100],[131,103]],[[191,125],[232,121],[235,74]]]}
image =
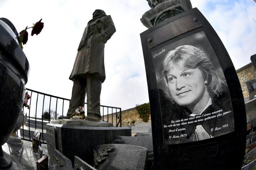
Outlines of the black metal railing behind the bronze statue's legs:
{"label": "black metal railing behind the bronze statue's legs", "polygon": [[[41,142],[46,143],[46,133],[45,131],[45,125],[47,123],[51,122],[52,116],[57,120],[57,117],[60,116],[58,115],[58,112],[61,110],[61,115],[63,116],[64,113],[64,108],[67,110],[68,109],[68,103],[69,99],[41,93],[35,90],[31,89],[26,89],[30,95],[30,101],[29,105],[31,108],[28,110],[27,108],[24,108],[24,118],[23,118],[23,124],[22,127],[20,128],[20,134],[21,138],[23,140],[28,140],[32,141],[32,137],[34,134],[34,131],[37,129],[41,133]],[[35,98],[36,95],[36,98]],[[55,103],[56,100],[56,103]],[[59,102],[59,103],[58,103]],[[61,105],[60,105],[61,102]],[[45,104],[46,103],[46,104]],[[49,107],[47,105],[49,104]],[[65,104],[64,104],[65,103]],[[86,104],[86,103],[85,103]],[[116,124],[114,125],[115,127],[122,127],[122,116],[121,116],[121,108],[116,108],[116,107],[110,107],[110,106],[101,106],[101,113],[102,113],[102,121],[107,121],[110,122],[109,120],[109,115],[111,114],[111,123],[113,126],[113,115],[115,114],[115,122]],[[85,105],[86,107],[86,105]],[[53,111],[52,108],[55,108],[55,111]],[[46,110],[45,110],[46,109]],[[47,114],[47,109],[48,109],[48,118],[44,119],[44,114]],[[113,112],[113,109],[115,112]],[[38,112],[39,110],[39,112]],[[40,112],[42,110],[42,112]],[[111,111],[109,111],[111,110]],[[119,111],[118,111],[119,110]],[[57,112],[58,111],[58,112]],[[86,109],[85,109],[86,111]],[[105,111],[105,112],[104,112]],[[27,116],[28,112],[28,116]],[[32,114],[34,112],[34,114]],[[39,115],[39,113],[42,113]],[[53,115],[51,114],[53,113]],[[104,120],[104,116],[107,116],[107,120]],[[40,118],[41,117],[41,118]],[[47,117],[47,115],[46,115]]]}

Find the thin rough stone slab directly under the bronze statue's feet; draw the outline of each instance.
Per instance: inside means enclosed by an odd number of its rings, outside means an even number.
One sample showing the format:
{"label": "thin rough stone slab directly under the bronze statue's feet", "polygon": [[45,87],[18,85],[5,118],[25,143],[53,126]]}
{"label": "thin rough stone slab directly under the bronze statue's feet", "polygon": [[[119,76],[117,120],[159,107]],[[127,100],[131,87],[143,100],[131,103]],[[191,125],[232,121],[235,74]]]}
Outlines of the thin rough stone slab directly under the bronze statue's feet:
{"label": "thin rough stone slab directly under the bronze statue's feet", "polygon": [[54,121],[54,124],[73,125],[73,126],[87,126],[87,127],[112,127],[109,122],[93,122],[81,119],[60,119]]}

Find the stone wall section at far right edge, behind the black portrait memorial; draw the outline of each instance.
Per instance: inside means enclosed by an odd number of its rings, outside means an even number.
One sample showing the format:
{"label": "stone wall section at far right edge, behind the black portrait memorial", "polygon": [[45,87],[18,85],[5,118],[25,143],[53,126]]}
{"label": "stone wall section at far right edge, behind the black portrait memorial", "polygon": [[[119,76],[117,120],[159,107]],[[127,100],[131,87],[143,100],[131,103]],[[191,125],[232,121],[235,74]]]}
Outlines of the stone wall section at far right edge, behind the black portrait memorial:
{"label": "stone wall section at far right edge, behind the black portrait memorial", "polygon": [[249,63],[242,68],[239,68],[236,70],[236,73],[242,87],[244,98],[249,97],[250,94],[245,82],[256,78],[256,71],[253,67],[253,64]]}

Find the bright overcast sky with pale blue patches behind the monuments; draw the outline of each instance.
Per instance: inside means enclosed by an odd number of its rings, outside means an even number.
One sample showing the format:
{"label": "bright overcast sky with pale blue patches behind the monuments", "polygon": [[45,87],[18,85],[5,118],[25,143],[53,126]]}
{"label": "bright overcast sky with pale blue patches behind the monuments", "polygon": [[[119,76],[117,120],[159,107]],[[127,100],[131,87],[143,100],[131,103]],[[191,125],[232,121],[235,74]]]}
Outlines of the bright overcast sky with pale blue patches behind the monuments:
{"label": "bright overcast sky with pale blue patches behind the monuments", "polygon": [[[235,69],[256,54],[256,3],[253,0],[191,0],[224,43]],[[42,18],[44,28],[29,36],[23,51],[30,63],[27,88],[70,99],[69,75],[87,22],[95,9],[111,15],[116,33],[105,45],[106,80],[101,105],[133,108],[149,102],[140,33],[147,30],[141,16],[150,9],[146,0],[0,0],[0,18],[17,31]],[[31,30],[28,31],[29,34]]]}

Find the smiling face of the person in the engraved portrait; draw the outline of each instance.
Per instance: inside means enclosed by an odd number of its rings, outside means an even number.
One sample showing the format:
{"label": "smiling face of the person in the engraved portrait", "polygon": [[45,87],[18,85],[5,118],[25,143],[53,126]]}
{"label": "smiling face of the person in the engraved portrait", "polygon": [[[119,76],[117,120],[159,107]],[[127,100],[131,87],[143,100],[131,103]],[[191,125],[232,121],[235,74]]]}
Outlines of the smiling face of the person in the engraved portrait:
{"label": "smiling face of the person in the engraved portrait", "polygon": [[200,69],[179,65],[169,70],[164,80],[174,101],[182,106],[193,106],[205,100],[204,96],[209,95],[205,85],[207,80],[204,80]]}

